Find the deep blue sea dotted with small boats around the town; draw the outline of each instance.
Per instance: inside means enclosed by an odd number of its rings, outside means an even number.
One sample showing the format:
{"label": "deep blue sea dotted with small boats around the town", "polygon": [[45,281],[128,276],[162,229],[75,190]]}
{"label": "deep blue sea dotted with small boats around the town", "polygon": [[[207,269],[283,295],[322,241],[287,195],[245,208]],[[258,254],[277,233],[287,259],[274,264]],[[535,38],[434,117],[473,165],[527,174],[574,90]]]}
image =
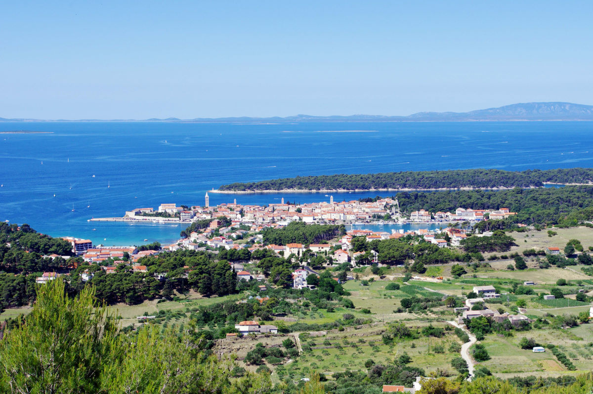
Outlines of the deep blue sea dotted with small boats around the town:
{"label": "deep blue sea dotted with small boats around the town", "polygon": [[[206,190],[224,183],[336,173],[593,166],[593,122],[0,122],[0,131],[19,130],[52,134],[0,134],[0,220],[109,245],[171,242],[186,226],[88,219],[161,203],[203,205]],[[334,193],[334,199],[375,195]],[[210,203],[237,198],[240,204],[263,205],[282,197],[329,201],[325,193],[212,193]]]}

